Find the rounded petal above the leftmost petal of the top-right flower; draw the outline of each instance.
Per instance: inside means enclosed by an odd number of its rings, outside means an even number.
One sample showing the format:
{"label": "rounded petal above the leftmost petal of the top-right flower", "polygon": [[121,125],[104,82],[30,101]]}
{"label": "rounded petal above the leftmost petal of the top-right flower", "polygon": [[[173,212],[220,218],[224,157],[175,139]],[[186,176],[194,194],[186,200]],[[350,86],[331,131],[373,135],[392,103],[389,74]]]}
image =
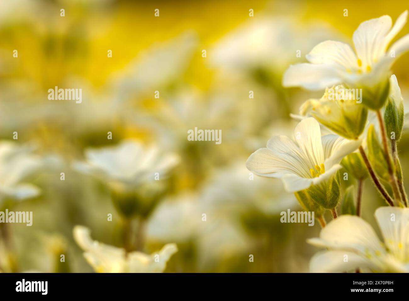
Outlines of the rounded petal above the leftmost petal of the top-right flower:
{"label": "rounded petal above the leftmost petal of the top-right flower", "polygon": [[337,41],[324,41],[312,48],[306,58],[313,64],[333,64],[339,68],[357,68],[357,57],[350,45]]}

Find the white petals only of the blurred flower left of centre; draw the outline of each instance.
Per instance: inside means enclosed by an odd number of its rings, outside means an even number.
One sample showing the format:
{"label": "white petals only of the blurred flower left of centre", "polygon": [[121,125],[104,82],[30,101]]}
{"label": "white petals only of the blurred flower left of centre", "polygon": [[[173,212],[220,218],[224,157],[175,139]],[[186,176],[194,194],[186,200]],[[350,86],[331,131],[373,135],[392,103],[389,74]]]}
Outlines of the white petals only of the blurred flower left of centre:
{"label": "white petals only of the blurred flower left of centre", "polygon": [[87,149],[84,163],[74,164],[77,170],[106,181],[110,185],[135,188],[153,181],[155,172],[160,179],[179,162],[176,154],[163,154],[155,146],[125,140],[113,147]]}

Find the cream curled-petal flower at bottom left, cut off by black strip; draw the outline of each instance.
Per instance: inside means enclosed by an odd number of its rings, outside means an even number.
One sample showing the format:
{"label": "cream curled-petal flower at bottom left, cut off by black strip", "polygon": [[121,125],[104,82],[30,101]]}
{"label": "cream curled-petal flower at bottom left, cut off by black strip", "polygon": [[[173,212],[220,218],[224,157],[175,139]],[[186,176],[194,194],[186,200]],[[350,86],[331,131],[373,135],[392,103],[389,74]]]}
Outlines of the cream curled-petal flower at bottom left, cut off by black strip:
{"label": "cream curled-petal flower at bottom left, cut off by black strip", "polygon": [[84,226],[75,226],[73,233],[76,243],[85,251],[85,259],[99,273],[161,273],[178,251],[176,244],[166,244],[151,255],[138,251],[126,253],[124,249],[92,240],[90,230]]}

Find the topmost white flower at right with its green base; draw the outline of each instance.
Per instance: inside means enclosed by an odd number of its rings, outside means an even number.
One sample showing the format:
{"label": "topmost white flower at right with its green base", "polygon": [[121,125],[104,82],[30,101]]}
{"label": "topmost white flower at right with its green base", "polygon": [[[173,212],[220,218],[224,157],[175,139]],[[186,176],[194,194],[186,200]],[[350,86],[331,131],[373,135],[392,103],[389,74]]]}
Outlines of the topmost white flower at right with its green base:
{"label": "topmost white flower at right with its green base", "polygon": [[395,59],[409,49],[406,35],[387,52],[392,39],[405,25],[407,14],[404,11],[393,27],[391,17],[386,15],[361,23],[353,34],[356,54],[342,42],[319,43],[306,55],[310,63],[290,66],[283,76],[283,85],[311,90],[337,84],[362,88],[362,103],[370,109],[380,109],[389,92],[389,70]]}

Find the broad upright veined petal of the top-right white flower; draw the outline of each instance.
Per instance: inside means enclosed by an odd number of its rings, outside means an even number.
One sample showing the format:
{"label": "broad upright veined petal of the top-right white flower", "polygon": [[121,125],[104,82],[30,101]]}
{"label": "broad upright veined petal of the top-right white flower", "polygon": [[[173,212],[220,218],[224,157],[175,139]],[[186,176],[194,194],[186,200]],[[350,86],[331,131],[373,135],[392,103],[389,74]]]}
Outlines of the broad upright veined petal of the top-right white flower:
{"label": "broad upright veined petal of the top-right white flower", "polygon": [[382,16],[362,22],[353,34],[353,41],[358,59],[361,59],[363,68],[372,66],[383,53],[384,37],[392,27],[390,16]]}

